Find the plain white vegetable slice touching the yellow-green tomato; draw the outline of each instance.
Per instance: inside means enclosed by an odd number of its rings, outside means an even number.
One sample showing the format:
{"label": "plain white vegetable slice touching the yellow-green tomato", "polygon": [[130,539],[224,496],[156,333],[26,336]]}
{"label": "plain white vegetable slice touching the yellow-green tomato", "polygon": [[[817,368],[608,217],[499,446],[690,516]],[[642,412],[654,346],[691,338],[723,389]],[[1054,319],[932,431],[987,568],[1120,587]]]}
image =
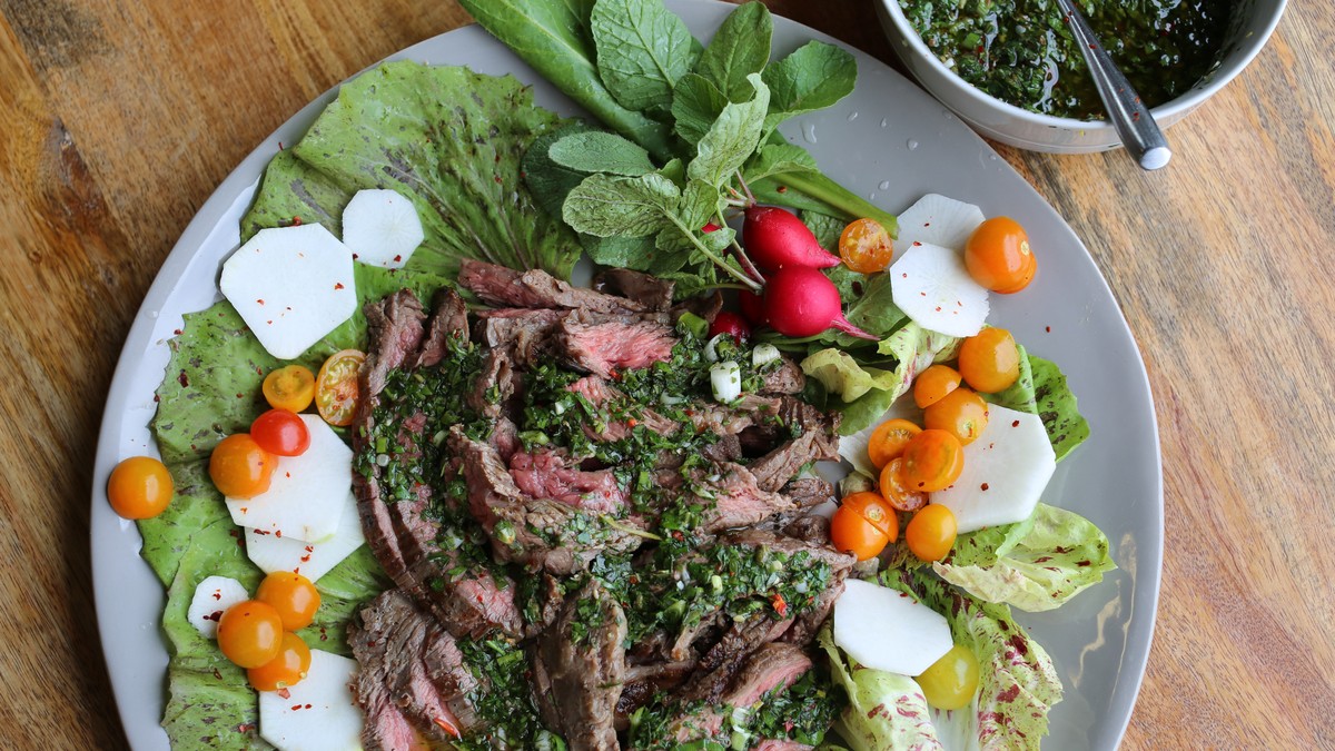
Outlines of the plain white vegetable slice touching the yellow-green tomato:
{"label": "plain white vegetable slice touching the yellow-green tomato", "polygon": [[953,643],[941,613],[889,587],[849,579],[834,601],[834,644],[862,667],[913,676]]}

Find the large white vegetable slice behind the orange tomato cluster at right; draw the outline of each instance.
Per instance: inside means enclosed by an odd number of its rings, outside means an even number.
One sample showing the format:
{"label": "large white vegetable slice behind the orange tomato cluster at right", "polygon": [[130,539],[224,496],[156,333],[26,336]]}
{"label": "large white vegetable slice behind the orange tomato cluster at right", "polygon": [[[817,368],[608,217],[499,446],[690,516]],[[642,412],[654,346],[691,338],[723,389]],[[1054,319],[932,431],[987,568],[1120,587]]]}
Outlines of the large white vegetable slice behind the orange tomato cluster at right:
{"label": "large white vegetable slice behind the orange tomato cluster at right", "polygon": [[932,502],[955,512],[959,532],[1024,521],[1048,486],[1057,456],[1037,414],[988,405],[988,425],[964,446],[964,470]]}

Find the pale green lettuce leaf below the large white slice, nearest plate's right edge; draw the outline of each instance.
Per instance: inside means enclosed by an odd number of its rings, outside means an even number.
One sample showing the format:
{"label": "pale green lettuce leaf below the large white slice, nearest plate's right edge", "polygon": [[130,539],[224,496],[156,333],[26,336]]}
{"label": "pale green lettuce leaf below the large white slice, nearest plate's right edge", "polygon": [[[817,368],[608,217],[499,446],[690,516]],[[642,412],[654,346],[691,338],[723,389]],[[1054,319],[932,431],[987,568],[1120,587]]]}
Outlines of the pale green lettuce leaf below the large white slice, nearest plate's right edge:
{"label": "pale green lettuce leaf below the large white slice, nearest plate's right edge", "polygon": [[1117,568],[1108,537],[1077,513],[1039,504],[1025,527],[961,536],[932,568],[975,597],[1029,612],[1057,608]]}

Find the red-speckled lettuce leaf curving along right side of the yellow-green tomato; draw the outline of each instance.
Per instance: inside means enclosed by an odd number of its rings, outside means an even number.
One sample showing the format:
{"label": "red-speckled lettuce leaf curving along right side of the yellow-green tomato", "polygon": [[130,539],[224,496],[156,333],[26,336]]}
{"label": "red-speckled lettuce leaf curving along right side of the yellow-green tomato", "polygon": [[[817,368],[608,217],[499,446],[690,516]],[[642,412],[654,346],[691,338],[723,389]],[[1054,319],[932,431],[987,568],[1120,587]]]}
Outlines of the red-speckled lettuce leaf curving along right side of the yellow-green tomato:
{"label": "red-speckled lettuce leaf curving along right side of the yellow-green tomato", "polygon": [[1061,700],[1061,679],[1047,651],[1011,617],[1011,608],[984,603],[925,568],[884,571],[880,579],[944,615],[955,643],[979,659],[973,711],[951,714],[952,723],[971,728],[944,728],[945,735],[976,739],[980,751],[1039,751],[1048,734],[1048,711]]}

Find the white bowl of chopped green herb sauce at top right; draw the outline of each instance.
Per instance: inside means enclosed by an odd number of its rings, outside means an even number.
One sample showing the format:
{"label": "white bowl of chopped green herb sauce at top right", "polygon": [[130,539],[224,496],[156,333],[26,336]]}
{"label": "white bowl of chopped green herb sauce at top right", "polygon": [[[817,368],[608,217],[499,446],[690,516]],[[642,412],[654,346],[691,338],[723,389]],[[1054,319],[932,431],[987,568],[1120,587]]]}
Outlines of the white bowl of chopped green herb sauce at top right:
{"label": "white bowl of chopped green herb sauce at top right", "polygon": [[[1287,0],[1077,0],[1160,127],[1260,52]],[[909,72],[981,135],[1085,154],[1121,142],[1055,0],[880,0]]]}

